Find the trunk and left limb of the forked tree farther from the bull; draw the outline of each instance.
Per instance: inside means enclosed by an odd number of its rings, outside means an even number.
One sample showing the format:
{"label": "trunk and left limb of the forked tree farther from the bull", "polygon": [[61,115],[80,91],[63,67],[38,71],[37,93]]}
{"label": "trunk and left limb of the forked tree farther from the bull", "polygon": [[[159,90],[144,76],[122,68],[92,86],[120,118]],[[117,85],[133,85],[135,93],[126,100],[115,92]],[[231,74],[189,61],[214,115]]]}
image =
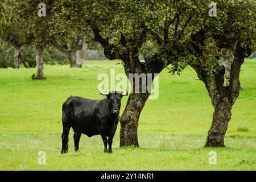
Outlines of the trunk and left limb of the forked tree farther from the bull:
{"label": "trunk and left limb of the forked tree farther from the bull", "polygon": [[229,100],[230,86],[224,86],[225,69],[222,68],[214,75],[201,69],[198,65],[191,64],[207,88],[209,97],[214,107],[212,126],[208,131],[205,147],[225,147],[224,137],[228,130],[233,103]]}

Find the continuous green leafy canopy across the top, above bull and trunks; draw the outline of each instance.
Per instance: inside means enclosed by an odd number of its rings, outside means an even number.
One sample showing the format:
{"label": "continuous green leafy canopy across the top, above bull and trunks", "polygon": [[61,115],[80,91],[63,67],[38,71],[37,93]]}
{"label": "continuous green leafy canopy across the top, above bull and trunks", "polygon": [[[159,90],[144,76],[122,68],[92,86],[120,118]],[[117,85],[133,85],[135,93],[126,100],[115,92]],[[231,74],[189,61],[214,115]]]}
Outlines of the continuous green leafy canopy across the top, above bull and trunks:
{"label": "continuous green leafy canopy across the top, above bull and trunks", "polygon": [[[221,47],[234,48],[241,44],[255,48],[256,5],[253,0],[216,0],[217,16],[210,17],[210,2],[49,0],[44,2],[47,17],[40,18],[37,15],[39,1],[19,0],[19,7],[26,6],[17,11],[34,34],[35,42],[44,46],[56,35],[59,35],[57,42],[67,42],[67,35],[76,30],[91,35],[91,29],[98,28],[100,35],[112,45],[112,53],[148,50],[166,66],[171,64],[171,72],[180,72],[189,60],[212,74],[222,67],[218,60]],[[204,32],[200,57],[191,40],[199,31]],[[145,49],[148,42],[154,48]],[[192,57],[195,59],[191,60]]]}

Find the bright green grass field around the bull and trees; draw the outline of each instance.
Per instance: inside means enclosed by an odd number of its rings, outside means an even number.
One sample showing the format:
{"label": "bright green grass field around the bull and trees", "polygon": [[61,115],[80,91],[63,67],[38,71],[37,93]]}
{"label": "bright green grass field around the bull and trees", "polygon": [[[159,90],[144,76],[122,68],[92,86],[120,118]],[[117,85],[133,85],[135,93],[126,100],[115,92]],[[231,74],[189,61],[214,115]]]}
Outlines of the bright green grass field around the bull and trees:
{"label": "bright green grass field around the bull and trees", "polygon": [[[140,117],[139,148],[119,148],[119,127],[113,154],[104,154],[100,136],[82,135],[75,153],[73,131],[69,152],[61,150],[61,105],[69,96],[100,99],[99,73],[122,73],[119,61],[85,61],[84,67],[46,66],[46,80],[31,80],[36,69],[0,69],[0,170],[255,170],[256,59],[241,71],[240,97],[232,110],[226,148],[203,148],[213,107],[203,82],[187,68],[181,76],[167,69],[159,76],[159,98],[148,100]],[[122,100],[125,108],[127,97]],[[248,131],[238,131],[247,127]],[[217,165],[208,163],[216,151]],[[38,152],[46,152],[46,165]]]}

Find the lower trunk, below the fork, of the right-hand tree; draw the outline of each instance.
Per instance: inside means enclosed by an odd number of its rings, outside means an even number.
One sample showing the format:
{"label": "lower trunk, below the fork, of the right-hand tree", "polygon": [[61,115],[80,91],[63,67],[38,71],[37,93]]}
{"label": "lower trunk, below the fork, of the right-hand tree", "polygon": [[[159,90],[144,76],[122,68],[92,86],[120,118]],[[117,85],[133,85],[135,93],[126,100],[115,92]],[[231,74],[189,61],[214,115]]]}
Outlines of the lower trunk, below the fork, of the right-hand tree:
{"label": "lower trunk, below the fork, of the right-hand tree", "polygon": [[225,147],[224,137],[231,119],[232,104],[228,97],[222,98],[215,106],[213,121],[208,131],[205,147]]}

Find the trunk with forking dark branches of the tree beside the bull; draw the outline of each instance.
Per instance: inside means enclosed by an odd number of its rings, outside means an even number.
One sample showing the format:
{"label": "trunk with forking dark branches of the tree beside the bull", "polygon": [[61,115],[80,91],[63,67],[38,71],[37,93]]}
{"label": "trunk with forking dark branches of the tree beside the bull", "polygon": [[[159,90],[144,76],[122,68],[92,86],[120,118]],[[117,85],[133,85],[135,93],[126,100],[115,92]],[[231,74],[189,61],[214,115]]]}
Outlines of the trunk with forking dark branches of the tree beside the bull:
{"label": "trunk with forking dark branches of the tree beside the bull", "polygon": [[[110,60],[121,59],[123,61],[127,77],[129,77],[129,73],[159,73],[155,71],[155,67],[153,67],[153,69],[151,69],[151,67],[147,67],[147,65],[141,63],[138,58],[138,49],[142,46],[141,44],[146,41],[146,29],[145,31],[142,31],[139,41],[135,43],[132,47],[126,47],[127,40],[125,36],[121,36],[120,42],[122,44],[122,47],[115,47],[113,46],[113,44],[109,43],[108,39],[102,38],[102,36],[100,35],[101,32],[98,28],[93,28],[92,30],[94,33],[94,40],[102,45],[102,47],[104,48],[105,56]],[[156,63],[158,63],[158,61],[156,61]],[[156,64],[156,67],[158,67],[158,64]],[[144,107],[144,104],[147,101],[148,96],[148,91],[145,93],[133,92],[130,94],[125,110],[123,111],[123,114],[119,119],[121,123],[120,147],[139,146],[137,135],[139,116]]]}

